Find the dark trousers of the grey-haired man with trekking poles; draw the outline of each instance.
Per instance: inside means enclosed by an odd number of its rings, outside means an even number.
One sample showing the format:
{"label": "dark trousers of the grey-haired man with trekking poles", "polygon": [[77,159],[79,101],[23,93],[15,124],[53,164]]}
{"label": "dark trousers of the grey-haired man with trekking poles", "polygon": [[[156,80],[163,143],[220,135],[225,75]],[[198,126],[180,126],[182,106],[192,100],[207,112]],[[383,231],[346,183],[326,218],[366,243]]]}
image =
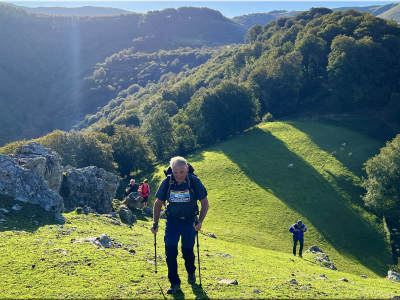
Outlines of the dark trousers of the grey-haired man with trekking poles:
{"label": "dark trousers of the grey-haired man with trekking poles", "polygon": [[185,268],[189,274],[196,271],[194,243],[196,238],[196,230],[193,224],[179,224],[168,221],[165,226],[165,255],[167,257],[168,279],[172,284],[181,283],[178,275],[178,242],[182,238],[182,257],[185,260]]}

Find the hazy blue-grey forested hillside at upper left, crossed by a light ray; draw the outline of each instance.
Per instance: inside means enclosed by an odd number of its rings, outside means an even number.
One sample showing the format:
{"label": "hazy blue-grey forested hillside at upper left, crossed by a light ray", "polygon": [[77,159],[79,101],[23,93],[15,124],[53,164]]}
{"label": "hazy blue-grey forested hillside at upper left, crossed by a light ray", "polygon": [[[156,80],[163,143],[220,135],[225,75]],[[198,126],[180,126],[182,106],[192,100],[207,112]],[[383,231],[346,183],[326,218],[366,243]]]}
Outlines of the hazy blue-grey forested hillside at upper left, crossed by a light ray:
{"label": "hazy blue-grey forested hillside at upper left, crossed by a light ray", "polygon": [[83,80],[115,53],[240,43],[246,33],[206,8],[77,17],[35,14],[5,3],[0,30],[0,145],[69,130],[108,103],[110,98],[86,103]]}

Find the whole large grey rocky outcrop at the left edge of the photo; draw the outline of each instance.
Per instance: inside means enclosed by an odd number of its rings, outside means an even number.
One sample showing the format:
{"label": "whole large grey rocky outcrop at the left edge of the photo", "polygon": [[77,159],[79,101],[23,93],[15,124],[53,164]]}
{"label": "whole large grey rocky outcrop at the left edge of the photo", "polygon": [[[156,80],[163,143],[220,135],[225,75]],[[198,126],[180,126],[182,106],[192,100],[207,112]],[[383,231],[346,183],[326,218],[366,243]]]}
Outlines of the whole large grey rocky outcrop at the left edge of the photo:
{"label": "whole large grey rocky outcrop at the left edge of the photo", "polygon": [[[57,171],[48,168],[57,164],[59,156],[50,157],[51,151],[37,143],[26,146],[29,147],[17,149],[15,156],[0,155],[0,193],[19,201],[38,204],[60,215],[64,210],[63,199],[53,189],[49,189],[49,185],[57,189]],[[39,152],[45,153],[44,157],[40,158],[37,154]]]}

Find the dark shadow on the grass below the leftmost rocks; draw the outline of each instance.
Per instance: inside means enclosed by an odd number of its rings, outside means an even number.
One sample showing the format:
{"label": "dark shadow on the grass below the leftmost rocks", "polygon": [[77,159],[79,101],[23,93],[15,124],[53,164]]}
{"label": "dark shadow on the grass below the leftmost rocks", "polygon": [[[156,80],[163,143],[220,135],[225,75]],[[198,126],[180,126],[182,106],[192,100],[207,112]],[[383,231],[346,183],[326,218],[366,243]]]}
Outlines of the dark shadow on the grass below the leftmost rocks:
{"label": "dark shadow on the grass below the leftmost rocks", "polygon": [[[20,206],[21,209],[13,210],[14,205]],[[0,194],[0,208],[8,210],[8,213],[0,212],[0,232],[10,230],[34,232],[44,225],[60,224],[54,213],[44,210],[38,204],[25,203],[6,195]]]}

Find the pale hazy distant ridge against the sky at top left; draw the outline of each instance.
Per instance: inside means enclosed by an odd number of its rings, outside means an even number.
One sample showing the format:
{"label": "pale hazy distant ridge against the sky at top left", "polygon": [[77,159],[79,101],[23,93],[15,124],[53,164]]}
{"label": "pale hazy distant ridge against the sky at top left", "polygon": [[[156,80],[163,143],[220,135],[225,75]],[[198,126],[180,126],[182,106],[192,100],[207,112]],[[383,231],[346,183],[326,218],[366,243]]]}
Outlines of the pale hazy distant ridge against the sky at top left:
{"label": "pale hazy distant ridge against the sky at top left", "polygon": [[35,13],[43,13],[61,16],[111,16],[119,14],[131,14],[133,12],[113,7],[82,6],[82,7],[27,7],[21,8]]}

